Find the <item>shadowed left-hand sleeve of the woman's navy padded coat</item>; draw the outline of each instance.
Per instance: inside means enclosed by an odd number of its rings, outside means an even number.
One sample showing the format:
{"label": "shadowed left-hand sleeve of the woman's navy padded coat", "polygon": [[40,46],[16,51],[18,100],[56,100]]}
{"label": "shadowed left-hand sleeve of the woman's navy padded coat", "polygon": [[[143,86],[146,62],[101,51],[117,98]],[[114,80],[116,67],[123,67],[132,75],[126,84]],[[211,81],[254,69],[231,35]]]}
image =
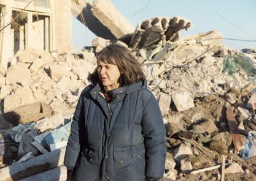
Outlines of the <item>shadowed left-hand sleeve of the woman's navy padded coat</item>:
{"label": "shadowed left-hand sleeve of the woman's navy padded coat", "polygon": [[82,95],[83,92],[80,95],[79,101],[77,102],[76,111],[72,117],[71,134],[69,135],[64,157],[64,166],[66,166],[68,169],[73,169],[75,167],[81,147],[84,145],[83,140],[85,139],[85,121],[83,113],[84,98]]}

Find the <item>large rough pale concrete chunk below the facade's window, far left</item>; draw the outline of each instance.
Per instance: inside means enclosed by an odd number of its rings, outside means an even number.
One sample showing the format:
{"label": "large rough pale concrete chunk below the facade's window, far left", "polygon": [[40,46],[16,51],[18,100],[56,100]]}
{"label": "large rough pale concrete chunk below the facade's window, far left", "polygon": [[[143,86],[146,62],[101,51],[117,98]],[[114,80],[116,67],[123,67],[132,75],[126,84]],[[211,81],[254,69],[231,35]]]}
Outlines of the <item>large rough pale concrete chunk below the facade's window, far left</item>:
{"label": "large rough pale concrete chunk below the facade's window, far left", "polygon": [[28,87],[29,82],[31,81],[31,73],[25,65],[12,65],[7,69],[6,72],[6,84],[15,85],[20,83],[23,87]]}

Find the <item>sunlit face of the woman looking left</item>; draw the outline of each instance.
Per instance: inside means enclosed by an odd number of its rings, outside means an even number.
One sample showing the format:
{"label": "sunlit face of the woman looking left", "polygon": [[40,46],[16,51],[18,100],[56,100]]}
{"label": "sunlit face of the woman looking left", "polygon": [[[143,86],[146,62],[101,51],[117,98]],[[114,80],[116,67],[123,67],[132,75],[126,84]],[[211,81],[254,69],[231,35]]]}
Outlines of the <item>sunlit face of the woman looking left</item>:
{"label": "sunlit face of the woman looking left", "polygon": [[99,79],[101,79],[105,90],[112,90],[119,87],[118,78],[120,77],[121,73],[117,65],[106,64],[99,61],[97,70]]}

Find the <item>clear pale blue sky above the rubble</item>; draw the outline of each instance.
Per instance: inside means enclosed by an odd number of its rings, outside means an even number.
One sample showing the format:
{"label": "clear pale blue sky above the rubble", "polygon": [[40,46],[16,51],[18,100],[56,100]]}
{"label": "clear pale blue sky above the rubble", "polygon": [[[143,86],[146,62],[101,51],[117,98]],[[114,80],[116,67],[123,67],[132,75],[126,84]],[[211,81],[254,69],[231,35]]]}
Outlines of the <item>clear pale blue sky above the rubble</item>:
{"label": "clear pale blue sky above the rubble", "polygon": [[[144,20],[175,16],[190,20],[193,28],[181,30],[180,38],[198,32],[219,31],[226,39],[251,40],[244,42],[223,40],[230,48],[256,48],[256,0],[111,0],[123,16],[136,25]],[[72,17],[74,50],[90,46],[96,38],[80,21]]]}

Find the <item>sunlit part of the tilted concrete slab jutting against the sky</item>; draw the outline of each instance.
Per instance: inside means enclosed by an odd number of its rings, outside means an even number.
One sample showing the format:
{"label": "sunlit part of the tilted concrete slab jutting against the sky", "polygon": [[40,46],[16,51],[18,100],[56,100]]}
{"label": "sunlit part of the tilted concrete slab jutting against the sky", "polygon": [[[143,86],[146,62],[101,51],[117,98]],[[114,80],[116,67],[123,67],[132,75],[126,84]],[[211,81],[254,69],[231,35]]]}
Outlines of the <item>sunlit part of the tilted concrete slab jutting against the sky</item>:
{"label": "sunlit part of the tilted concrete slab jutting against the sky", "polygon": [[133,25],[115,9],[110,0],[93,1],[91,12],[117,39],[134,31]]}

